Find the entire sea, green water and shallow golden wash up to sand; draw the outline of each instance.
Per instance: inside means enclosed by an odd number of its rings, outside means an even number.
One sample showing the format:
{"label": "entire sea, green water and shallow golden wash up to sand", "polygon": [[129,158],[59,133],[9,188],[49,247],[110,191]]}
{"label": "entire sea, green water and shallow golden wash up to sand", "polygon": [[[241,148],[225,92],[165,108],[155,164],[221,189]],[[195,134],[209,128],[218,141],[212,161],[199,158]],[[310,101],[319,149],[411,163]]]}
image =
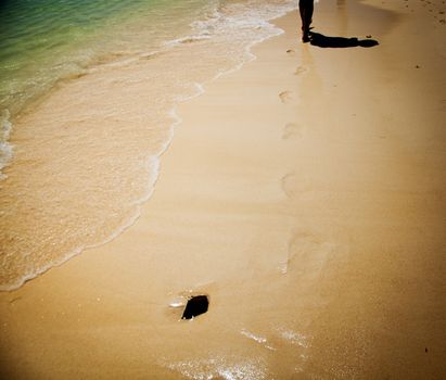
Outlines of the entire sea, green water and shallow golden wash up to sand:
{"label": "entire sea, green water and shallow golden wash up to sand", "polygon": [[0,289],[118,236],[176,105],[281,33],[291,0],[0,2]]}

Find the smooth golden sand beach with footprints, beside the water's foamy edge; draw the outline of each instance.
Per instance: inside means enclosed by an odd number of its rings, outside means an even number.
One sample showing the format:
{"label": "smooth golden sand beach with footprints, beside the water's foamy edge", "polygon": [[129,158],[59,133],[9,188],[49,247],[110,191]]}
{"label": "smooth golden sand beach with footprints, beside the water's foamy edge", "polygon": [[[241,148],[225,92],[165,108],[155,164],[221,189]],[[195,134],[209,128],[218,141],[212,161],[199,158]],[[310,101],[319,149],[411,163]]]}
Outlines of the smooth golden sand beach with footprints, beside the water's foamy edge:
{"label": "smooth golden sand beach with footprints, beside the water's foamy edge", "polygon": [[445,11],[276,20],[178,106],[133,225],[0,293],[2,378],[445,378]]}

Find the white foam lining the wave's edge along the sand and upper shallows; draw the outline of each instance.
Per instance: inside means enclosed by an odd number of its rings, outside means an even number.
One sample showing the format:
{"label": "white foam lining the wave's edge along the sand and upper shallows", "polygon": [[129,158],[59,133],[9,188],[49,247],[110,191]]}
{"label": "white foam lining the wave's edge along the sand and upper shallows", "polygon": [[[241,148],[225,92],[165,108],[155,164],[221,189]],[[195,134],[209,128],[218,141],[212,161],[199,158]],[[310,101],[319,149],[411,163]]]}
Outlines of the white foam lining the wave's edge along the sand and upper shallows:
{"label": "white foam lining the wave's edge along the sand and upper shallows", "polygon": [[[275,36],[283,34],[283,30],[278,28],[277,26],[269,23],[269,21],[283,16],[284,14],[293,11],[296,9],[296,3],[294,1],[285,1],[282,4],[256,4],[255,1],[247,2],[247,5],[244,4],[230,4],[227,7],[232,7],[230,10],[232,13],[231,15],[225,14],[222,11],[214,11],[211,17],[207,20],[202,20],[192,23],[192,27],[194,28],[195,33],[191,36],[184,36],[180,39],[173,40],[166,43],[166,49],[175,49],[176,46],[182,45],[184,41],[188,40],[212,40],[224,38],[226,41],[230,41],[231,38],[240,37],[240,43],[244,46],[244,55],[239,63],[235,63],[233,67],[225,71],[218,72],[213,78],[204,83],[195,83],[193,86],[195,87],[195,91],[192,94],[187,97],[178,97],[177,103],[171,107],[169,115],[173,118],[173,123],[170,125],[170,132],[168,139],[163,144],[160,152],[155,155],[152,155],[149,161],[145,163],[148,165],[148,172],[150,176],[148,178],[146,183],[146,193],[141,197],[140,199],[131,202],[131,205],[135,207],[135,212],[132,216],[130,216],[119,228],[117,228],[113,233],[111,233],[107,238],[98,241],[92,244],[80,244],[75,250],[67,252],[62,258],[58,261],[53,261],[48,263],[46,266],[40,268],[33,268],[31,271],[25,274],[21,279],[18,279],[15,283],[9,283],[4,286],[0,286],[0,291],[10,291],[20,288],[24,282],[37,277],[38,275],[43,274],[44,271],[49,270],[51,267],[60,266],[69,258],[78,255],[84,250],[90,248],[97,248],[103,244],[106,244],[117,238],[122,232],[124,232],[127,228],[132,226],[136,220],[139,218],[141,214],[141,206],[152,197],[156,181],[158,179],[158,174],[161,169],[161,156],[164,152],[169,148],[173,138],[175,128],[181,124],[181,118],[177,114],[177,105],[180,102],[188,101],[192,98],[201,96],[205,92],[205,86],[208,83],[212,83],[218,79],[222,75],[228,75],[234,71],[240,69],[245,63],[255,60],[255,55],[251,52],[251,49]],[[243,31],[246,35],[243,35]],[[254,31],[254,33],[253,33]],[[260,33],[262,31],[262,33]],[[123,60],[115,61],[114,63],[107,63],[106,65],[123,65],[123,64],[131,64],[136,60],[146,59],[148,56],[155,56],[156,54],[163,52],[161,51],[152,51],[149,53],[139,53],[133,56],[127,56]],[[98,68],[92,68],[94,71]],[[8,142],[10,131],[12,128],[11,123],[9,122],[9,112],[5,112],[4,115],[1,116],[1,135],[0,137],[2,140],[0,141],[0,170],[3,168],[8,163],[11,161],[12,157],[12,145]],[[1,175],[0,175],[1,179]],[[235,375],[234,375],[235,373]],[[221,377],[231,378],[230,376],[237,376],[237,371],[233,372],[231,370],[227,370],[224,373],[220,373]],[[237,377],[235,377],[237,378]]]}

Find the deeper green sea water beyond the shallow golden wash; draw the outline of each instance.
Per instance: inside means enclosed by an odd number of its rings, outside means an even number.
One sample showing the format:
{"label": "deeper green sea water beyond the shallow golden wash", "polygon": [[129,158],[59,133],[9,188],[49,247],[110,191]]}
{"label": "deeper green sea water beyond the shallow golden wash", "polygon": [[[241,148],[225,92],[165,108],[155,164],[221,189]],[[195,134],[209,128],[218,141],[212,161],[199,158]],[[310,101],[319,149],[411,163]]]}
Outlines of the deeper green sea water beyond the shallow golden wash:
{"label": "deeper green sea water beyond the shallow golden wash", "polygon": [[12,115],[91,65],[148,52],[187,33],[213,1],[0,2],[0,111]]}

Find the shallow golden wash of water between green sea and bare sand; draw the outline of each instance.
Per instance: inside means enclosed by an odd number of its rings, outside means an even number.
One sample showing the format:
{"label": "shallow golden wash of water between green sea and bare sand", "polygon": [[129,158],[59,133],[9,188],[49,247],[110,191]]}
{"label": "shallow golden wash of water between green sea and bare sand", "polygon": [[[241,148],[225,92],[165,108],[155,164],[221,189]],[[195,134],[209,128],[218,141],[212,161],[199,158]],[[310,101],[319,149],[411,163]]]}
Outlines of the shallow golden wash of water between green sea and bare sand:
{"label": "shallow golden wash of water between green sea and bare sand", "polygon": [[[163,33],[171,23],[170,34],[149,49],[139,39],[125,49],[107,47],[112,51],[103,56],[111,61],[79,65],[81,76],[61,83],[14,123],[26,159],[12,160],[14,180],[4,180],[0,193],[0,290],[16,289],[130,227],[153,194],[161,157],[181,123],[177,105],[254,60],[254,45],[282,33],[269,21],[296,4],[214,1],[203,7],[195,20],[184,18],[187,33],[180,35],[178,22],[167,15]],[[129,29],[139,38],[152,33]],[[126,37],[125,28],[119,33],[120,41],[136,38]],[[9,113],[2,121],[7,164]]]}

